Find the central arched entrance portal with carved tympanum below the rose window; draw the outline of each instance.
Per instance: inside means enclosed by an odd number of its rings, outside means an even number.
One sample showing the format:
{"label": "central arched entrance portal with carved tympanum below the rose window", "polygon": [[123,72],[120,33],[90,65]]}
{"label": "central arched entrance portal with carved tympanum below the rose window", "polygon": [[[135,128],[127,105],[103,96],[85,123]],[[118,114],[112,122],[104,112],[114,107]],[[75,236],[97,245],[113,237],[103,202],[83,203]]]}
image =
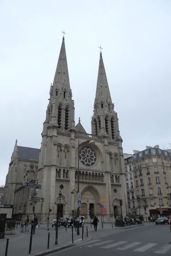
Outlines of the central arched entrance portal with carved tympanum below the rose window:
{"label": "central arched entrance portal with carved tympanum below the rose window", "polygon": [[91,186],[83,189],[81,192],[81,215],[94,218],[100,214],[100,195],[99,192]]}

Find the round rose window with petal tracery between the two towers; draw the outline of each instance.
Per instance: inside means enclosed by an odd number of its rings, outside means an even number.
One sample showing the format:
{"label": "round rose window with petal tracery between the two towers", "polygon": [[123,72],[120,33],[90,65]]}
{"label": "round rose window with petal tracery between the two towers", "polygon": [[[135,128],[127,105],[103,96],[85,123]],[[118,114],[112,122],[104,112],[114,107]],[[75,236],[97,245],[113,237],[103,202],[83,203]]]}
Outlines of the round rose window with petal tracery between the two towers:
{"label": "round rose window with petal tracery between the two towers", "polygon": [[83,165],[92,166],[95,164],[97,156],[91,147],[85,146],[79,150],[79,159]]}

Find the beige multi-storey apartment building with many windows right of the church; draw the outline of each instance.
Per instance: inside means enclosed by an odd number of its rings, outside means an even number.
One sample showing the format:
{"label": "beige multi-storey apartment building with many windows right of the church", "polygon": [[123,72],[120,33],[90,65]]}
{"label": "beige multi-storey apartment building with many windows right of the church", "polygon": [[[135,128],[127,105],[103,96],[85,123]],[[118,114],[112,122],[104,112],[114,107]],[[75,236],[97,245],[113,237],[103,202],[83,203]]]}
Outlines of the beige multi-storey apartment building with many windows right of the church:
{"label": "beige multi-storey apartment building with many windows right of the church", "polygon": [[124,154],[129,213],[171,214],[171,150],[159,145]]}

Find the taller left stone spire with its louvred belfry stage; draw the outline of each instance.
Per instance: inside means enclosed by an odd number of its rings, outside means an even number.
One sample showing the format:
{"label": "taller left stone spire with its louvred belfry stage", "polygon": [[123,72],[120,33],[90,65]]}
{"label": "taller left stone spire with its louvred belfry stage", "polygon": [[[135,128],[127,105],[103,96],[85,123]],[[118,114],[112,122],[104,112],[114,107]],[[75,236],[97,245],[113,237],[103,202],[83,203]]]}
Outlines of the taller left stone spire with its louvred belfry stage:
{"label": "taller left stone spire with its louvred belfry stage", "polygon": [[69,131],[71,127],[73,129],[73,121],[74,101],[70,89],[65,39],[63,37],[53,85],[51,84],[50,87],[45,123],[56,126],[60,131]]}

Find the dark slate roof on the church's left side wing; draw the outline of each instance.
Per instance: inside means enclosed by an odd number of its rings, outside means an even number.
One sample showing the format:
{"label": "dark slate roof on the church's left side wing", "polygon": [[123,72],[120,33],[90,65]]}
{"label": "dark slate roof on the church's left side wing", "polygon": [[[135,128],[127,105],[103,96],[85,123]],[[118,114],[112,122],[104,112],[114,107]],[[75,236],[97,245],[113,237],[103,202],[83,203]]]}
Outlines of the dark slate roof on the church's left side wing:
{"label": "dark slate roof on the church's left side wing", "polygon": [[22,159],[39,160],[39,148],[18,146],[18,157]]}

